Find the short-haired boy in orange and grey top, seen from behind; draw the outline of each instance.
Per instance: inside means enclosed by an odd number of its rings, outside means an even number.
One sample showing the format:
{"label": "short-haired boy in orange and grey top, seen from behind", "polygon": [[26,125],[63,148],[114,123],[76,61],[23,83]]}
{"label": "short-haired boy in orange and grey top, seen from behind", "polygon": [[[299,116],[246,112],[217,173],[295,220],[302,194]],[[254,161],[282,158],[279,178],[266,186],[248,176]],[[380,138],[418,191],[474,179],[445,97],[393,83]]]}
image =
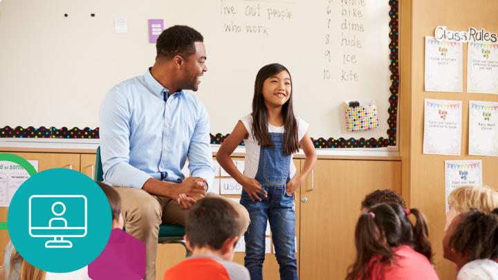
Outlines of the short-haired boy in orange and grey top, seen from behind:
{"label": "short-haired boy in orange and grey top, seen from behind", "polygon": [[239,218],[233,207],[219,198],[199,200],[185,221],[185,242],[192,256],[165,272],[164,279],[250,279],[249,271],[232,263],[239,241]]}

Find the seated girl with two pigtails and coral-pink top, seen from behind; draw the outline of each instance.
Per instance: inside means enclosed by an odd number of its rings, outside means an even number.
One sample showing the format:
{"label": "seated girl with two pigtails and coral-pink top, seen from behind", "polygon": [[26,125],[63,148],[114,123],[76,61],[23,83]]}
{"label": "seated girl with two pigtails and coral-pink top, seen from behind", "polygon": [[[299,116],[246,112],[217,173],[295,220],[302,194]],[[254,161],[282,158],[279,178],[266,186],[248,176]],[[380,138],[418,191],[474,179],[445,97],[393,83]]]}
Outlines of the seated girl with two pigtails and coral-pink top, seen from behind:
{"label": "seated girl with two pigtails and coral-pink top, seen from behind", "polygon": [[[416,217],[415,225],[408,219]],[[438,279],[432,268],[427,223],[418,209],[394,203],[374,205],[356,224],[356,261],[347,280]]]}

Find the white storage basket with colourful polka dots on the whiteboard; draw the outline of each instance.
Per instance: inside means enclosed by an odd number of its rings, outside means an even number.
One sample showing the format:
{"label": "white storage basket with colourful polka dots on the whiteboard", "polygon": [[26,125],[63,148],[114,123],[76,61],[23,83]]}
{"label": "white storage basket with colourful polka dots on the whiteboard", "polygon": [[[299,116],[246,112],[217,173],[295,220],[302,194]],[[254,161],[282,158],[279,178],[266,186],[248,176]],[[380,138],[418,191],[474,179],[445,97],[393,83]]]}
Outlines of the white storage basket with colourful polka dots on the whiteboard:
{"label": "white storage basket with colourful polka dots on the whiteboard", "polygon": [[378,127],[377,104],[374,100],[360,100],[360,106],[346,105],[346,128],[348,131],[375,129]]}

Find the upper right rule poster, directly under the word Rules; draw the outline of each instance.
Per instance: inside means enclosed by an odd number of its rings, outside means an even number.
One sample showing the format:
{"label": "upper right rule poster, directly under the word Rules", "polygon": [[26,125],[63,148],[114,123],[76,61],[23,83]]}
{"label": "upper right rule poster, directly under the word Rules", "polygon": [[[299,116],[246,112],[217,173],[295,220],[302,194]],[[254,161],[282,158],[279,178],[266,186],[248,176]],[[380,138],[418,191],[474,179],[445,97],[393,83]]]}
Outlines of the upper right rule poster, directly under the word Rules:
{"label": "upper right rule poster, directly under the word Rules", "polygon": [[468,43],[467,92],[498,94],[498,45]]}

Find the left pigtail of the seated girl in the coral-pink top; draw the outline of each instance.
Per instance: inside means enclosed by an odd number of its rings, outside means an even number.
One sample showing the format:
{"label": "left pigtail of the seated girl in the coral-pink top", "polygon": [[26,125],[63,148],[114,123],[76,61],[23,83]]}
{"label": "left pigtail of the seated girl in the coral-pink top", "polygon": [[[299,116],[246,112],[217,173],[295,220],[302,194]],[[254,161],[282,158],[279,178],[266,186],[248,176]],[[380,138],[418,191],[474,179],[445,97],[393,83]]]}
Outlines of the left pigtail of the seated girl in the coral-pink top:
{"label": "left pigtail of the seated girl in the coral-pink top", "polygon": [[[384,232],[376,223],[375,215],[374,212],[368,212],[358,218],[355,230],[356,261],[349,266],[346,280],[371,279],[372,268],[382,270],[383,262],[394,259]],[[372,256],[378,257],[370,262]]]}

